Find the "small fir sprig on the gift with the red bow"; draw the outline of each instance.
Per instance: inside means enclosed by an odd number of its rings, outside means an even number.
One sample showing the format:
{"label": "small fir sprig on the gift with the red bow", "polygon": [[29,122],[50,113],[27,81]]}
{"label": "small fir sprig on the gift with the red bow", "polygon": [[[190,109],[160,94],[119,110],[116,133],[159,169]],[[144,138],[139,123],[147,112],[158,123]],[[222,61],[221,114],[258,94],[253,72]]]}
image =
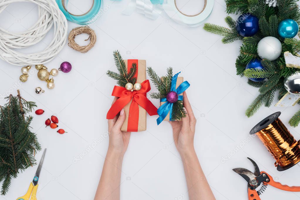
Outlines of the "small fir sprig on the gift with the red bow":
{"label": "small fir sprig on the gift with the red bow", "polygon": [[108,70],[106,74],[117,80],[119,86],[125,87],[127,83],[135,84],[135,82],[137,82],[137,78],[134,77],[137,72],[137,63],[132,64],[128,73],[125,62],[118,50],[113,52],[113,57],[119,73]]}

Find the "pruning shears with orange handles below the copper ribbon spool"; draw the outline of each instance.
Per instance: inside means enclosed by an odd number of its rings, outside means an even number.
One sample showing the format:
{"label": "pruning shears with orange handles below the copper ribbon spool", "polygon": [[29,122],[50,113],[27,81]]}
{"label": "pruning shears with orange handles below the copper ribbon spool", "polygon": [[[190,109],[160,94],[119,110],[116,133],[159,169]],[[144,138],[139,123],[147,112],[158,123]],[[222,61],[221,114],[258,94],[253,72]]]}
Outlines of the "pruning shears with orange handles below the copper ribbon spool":
{"label": "pruning shears with orange handles below the copper ribbon spool", "polygon": [[[282,185],[279,182],[274,181],[274,179],[267,174],[267,172],[260,172],[257,164],[250,158],[248,158],[254,165],[254,173],[250,172],[248,169],[235,168],[232,169],[234,172],[241,175],[248,182],[248,199],[249,200],[261,200],[259,195],[262,194],[267,185],[271,185],[280,190],[290,191],[290,192],[300,192],[299,186],[288,186]],[[255,189],[262,184],[261,188],[256,191]]]}

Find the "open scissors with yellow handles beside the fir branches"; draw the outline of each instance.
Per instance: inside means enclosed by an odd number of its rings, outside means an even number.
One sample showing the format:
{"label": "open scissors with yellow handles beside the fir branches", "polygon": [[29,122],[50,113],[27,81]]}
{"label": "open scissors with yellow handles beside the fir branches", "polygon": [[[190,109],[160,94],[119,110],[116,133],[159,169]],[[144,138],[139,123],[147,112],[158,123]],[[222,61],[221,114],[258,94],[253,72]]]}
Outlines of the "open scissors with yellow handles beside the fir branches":
{"label": "open scissors with yellow handles beside the fir branches", "polygon": [[38,169],[35,172],[35,177],[33,178],[32,182],[30,183],[29,188],[27,190],[27,193],[24,196],[21,196],[16,200],[37,200],[38,179],[40,177],[40,172],[41,172],[41,169],[42,169],[42,165],[43,165],[46,150],[47,149],[44,150],[44,153],[42,155],[40,164],[38,165]]}

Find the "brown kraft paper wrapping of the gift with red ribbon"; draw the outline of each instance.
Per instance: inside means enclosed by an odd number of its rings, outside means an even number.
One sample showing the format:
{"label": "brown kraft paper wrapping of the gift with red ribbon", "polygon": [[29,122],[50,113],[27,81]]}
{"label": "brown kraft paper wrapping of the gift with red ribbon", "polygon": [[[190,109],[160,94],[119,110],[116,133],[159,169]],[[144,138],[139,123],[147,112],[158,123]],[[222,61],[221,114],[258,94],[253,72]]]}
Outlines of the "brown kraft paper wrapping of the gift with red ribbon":
{"label": "brown kraft paper wrapping of the gift with red ribbon", "polygon": [[[124,60],[126,67],[128,69],[128,61]],[[138,69],[137,69],[137,83],[142,83],[143,81],[146,80],[146,60],[138,60],[137,63]],[[131,66],[129,66],[131,67]],[[128,69],[130,70],[130,68]],[[132,100],[131,100],[132,101]],[[125,122],[123,123],[121,127],[121,131],[127,131],[127,125],[128,125],[128,120],[131,120],[130,114],[129,114],[129,108],[131,101],[124,107],[125,111]],[[137,132],[139,131],[146,131],[147,128],[147,122],[146,122],[146,110],[139,105],[139,110],[136,110],[135,112],[139,112],[139,120],[138,122],[138,129]]]}

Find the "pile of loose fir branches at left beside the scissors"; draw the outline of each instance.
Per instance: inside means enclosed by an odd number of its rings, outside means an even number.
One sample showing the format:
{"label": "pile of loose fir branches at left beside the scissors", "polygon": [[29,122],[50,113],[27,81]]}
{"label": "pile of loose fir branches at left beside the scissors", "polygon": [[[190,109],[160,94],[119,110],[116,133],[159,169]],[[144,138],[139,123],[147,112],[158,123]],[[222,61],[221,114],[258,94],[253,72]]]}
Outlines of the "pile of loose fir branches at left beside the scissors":
{"label": "pile of loose fir branches at left beside the scissors", "polygon": [[36,164],[35,153],[41,150],[36,134],[30,130],[33,117],[28,113],[36,107],[18,95],[6,97],[0,106],[0,181],[1,194],[5,195],[12,178]]}

